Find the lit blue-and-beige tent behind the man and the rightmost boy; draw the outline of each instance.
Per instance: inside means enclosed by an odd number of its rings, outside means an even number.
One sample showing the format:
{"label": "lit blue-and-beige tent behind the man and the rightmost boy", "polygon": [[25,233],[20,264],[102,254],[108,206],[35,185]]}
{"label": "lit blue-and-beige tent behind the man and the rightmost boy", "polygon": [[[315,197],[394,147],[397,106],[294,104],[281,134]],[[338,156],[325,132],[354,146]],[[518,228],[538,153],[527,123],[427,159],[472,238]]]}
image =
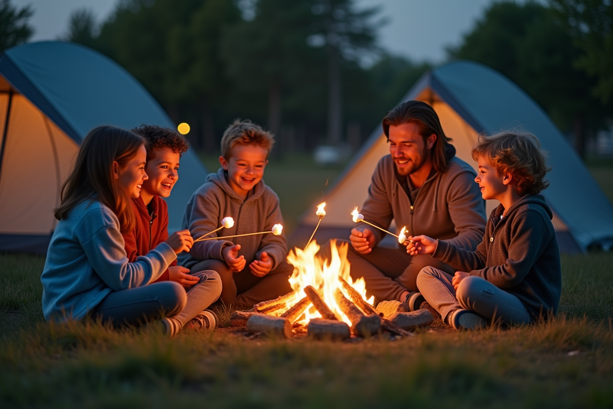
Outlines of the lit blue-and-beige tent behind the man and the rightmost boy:
{"label": "lit blue-and-beige tent behind the man and the rightmost boy", "polygon": [[[585,251],[590,245],[613,240],[611,203],[546,113],[503,75],[478,63],[457,61],[425,74],[400,102],[411,99],[432,105],[446,136],[452,138],[457,156],[473,167],[476,163],[470,151],[480,133],[515,128],[533,132],[549,152],[550,186],[543,195],[554,211],[561,250]],[[364,203],[376,164],[388,153],[379,125],[327,191],[327,215],[316,235],[319,241],[348,235],[354,226],[349,212]],[[487,201],[487,211],[496,205]],[[308,240],[317,221],[314,212],[305,213],[291,242],[300,245]],[[392,229],[398,227],[392,224]]]}

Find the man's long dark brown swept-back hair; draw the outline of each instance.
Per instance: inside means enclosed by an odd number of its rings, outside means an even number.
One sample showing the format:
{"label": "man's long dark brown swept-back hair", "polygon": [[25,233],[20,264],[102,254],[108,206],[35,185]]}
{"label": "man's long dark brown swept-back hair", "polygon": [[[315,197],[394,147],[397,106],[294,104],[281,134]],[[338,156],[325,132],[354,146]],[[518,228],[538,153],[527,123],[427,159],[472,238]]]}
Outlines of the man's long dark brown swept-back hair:
{"label": "man's long dark brown swept-back hair", "polygon": [[415,123],[419,127],[419,134],[424,137],[435,134],[436,140],[430,153],[432,153],[432,166],[436,172],[446,172],[447,170],[447,145],[451,138],[445,136],[441,121],[438,119],[435,110],[425,102],[406,101],[398,105],[383,118],[383,132],[389,140],[389,127],[398,126],[405,123]]}

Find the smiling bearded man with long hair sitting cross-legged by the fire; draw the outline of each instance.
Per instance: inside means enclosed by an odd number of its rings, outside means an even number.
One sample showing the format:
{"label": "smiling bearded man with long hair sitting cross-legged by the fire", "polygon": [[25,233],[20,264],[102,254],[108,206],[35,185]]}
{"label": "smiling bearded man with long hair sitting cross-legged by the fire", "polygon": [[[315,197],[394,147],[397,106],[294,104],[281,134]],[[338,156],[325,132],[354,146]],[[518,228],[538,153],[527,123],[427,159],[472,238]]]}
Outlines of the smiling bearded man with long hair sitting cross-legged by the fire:
{"label": "smiling bearded man with long hair sitting cross-legged by the fire", "polygon": [[[392,220],[406,235],[425,234],[474,251],[485,231],[485,203],[473,182],[473,168],[455,156],[435,110],[421,101],[407,101],[383,118],[390,155],[377,164],[364,220],[388,229]],[[426,266],[453,274],[451,266],[430,256],[410,256],[404,246],[378,246],[384,233],[360,223],[349,237],[351,275],[364,277],[368,295],[407,302],[411,310],[424,298],[416,278]]]}

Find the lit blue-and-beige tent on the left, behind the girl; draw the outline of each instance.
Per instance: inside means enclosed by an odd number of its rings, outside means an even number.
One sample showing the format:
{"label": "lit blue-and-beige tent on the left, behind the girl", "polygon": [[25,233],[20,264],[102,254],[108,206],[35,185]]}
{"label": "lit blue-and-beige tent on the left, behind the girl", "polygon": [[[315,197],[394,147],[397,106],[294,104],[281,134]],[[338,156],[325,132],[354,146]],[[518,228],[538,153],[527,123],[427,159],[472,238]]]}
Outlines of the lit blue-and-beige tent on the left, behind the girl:
{"label": "lit blue-and-beige tent on the left, behind the girl", "polygon": [[[59,189],[92,128],[174,128],[153,97],[121,66],[82,45],[37,42],[0,57],[0,250],[44,253]],[[167,200],[169,229],[206,169],[192,150]]]}

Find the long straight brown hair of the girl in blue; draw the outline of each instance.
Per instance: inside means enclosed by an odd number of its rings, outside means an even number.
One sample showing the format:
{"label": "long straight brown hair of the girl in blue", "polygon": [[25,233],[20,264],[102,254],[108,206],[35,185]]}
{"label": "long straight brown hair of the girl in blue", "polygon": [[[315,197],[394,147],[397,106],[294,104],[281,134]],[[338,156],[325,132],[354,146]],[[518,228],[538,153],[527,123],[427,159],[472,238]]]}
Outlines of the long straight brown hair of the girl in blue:
{"label": "long straight brown hair of the girl in blue", "polygon": [[114,126],[99,126],[89,131],[78,151],[74,169],[62,185],[62,203],[55,209],[55,218],[67,218],[82,201],[97,200],[113,210],[122,233],[134,229],[132,206],[113,177],[113,161],[120,167],[126,166],[143,143],[142,137]]}

